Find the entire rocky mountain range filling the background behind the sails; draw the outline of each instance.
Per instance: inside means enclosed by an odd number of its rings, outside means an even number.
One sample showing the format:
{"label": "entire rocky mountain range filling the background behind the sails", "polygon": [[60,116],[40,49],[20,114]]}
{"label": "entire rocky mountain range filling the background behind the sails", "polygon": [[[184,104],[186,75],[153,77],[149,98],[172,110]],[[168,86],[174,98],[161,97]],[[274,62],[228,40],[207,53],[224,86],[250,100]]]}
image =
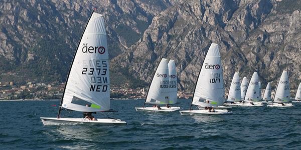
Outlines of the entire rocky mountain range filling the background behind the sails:
{"label": "entire rocky mountain range filling the background behind the sails", "polygon": [[113,84],[147,86],[162,57],[193,89],[211,42],[220,46],[225,86],[235,71],[258,71],[263,87],[289,71],[301,81],[299,0],[4,0],[0,72],[64,81],[91,10],[107,25]]}

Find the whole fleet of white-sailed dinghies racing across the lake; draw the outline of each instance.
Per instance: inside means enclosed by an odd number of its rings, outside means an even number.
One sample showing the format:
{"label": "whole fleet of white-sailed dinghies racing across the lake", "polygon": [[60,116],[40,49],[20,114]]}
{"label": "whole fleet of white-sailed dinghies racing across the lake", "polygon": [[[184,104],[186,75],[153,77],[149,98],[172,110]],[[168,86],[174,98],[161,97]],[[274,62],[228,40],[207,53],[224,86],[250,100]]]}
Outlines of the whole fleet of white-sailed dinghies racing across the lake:
{"label": "whole fleet of white-sailed dinghies racing across the lake", "polygon": [[[125,125],[126,121],[111,118],[91,119],[91,113],[114,111],[110,109],[109,57],[106,28],[103,15],[92,12],[81,36],[67,76],[57,117],[41,117],[44,125],[88,123],[100,125]],[[173,112],[181,114],[231,114],[227,108],[232,106],[289,107],[288,72],[283,70],[273,97],[268,82],[261,96],[261,82],[254,72],[250,82],[244,76],[240,82],[239,72],[235,72],[225,97],[223,67],[219,46],[211,43],[200,68],[190,108],[184,110],[177,99],[177,71],[175,60],[162,58],[153,79],[149,84],[144,104],[135,107],[136,111]],[[301,83],[298,86],[295,101],[301,102]],[[152,106],[147,106],[151,104]],[[193,109],[194,107],[197,107]],[[82,118],[61,117],[61,111],[69,109],[84,112]]]}

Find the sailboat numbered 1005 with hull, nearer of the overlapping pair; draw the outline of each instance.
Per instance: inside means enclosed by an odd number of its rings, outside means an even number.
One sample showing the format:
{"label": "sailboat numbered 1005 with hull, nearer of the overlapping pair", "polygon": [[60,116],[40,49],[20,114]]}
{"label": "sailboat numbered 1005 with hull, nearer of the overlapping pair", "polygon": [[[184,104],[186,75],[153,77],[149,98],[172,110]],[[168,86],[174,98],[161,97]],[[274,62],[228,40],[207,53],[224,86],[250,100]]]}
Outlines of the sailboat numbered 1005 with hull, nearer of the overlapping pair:
{"label": "sailboat numbered 1005 with hull, nearer of the overlapping pair", "polygon": [[[136,111],[157,111],[157,112],[171,112],[174,109],[161,108],[160,104],[169,104],[169,68],[166,58],[162,58],[156,71],[152,82],[149,85],[148,92],[143,104],[143,107],[135,107]],[[175,99],[172,99],[175,100]],[[153,107],[144,107],[145,104],[154,104]]]}

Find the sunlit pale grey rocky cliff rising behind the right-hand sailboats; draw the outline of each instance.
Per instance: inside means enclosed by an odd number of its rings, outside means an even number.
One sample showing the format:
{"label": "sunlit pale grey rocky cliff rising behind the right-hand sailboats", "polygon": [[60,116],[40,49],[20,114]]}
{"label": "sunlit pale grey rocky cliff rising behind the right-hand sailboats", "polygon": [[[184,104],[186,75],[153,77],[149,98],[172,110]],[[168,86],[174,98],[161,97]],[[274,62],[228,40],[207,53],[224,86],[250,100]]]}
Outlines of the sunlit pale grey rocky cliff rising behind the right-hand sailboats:
{"label": "sunlit pale grey rocky cliff rising behind the right-hand sailboats", "polygon": [[192,89],[206,50],[216,42],[226,87],[235,71],[249,78],[258,71],[265,84],[283,69],[295,85],[301,79],[300,10],[283,3],[185,0],[156,15],[141,39],[113,61],[149,81],[161,57],[175,59],[180,87]]}

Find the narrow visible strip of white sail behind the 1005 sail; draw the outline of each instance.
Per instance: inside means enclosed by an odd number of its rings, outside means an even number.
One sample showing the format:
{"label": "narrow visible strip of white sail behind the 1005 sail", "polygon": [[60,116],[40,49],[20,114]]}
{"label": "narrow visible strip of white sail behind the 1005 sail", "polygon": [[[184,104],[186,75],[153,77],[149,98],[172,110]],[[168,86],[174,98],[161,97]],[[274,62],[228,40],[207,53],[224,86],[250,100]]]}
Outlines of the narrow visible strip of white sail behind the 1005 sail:
{"label": "narrow visible strip of white sail behind the 1005 sail", "polygon": [[177,70],[175,60],[170,59],[168,62],[168,70],[169,70],[169,103],[177,103],[178,102],[178,86],[177,86]]}

